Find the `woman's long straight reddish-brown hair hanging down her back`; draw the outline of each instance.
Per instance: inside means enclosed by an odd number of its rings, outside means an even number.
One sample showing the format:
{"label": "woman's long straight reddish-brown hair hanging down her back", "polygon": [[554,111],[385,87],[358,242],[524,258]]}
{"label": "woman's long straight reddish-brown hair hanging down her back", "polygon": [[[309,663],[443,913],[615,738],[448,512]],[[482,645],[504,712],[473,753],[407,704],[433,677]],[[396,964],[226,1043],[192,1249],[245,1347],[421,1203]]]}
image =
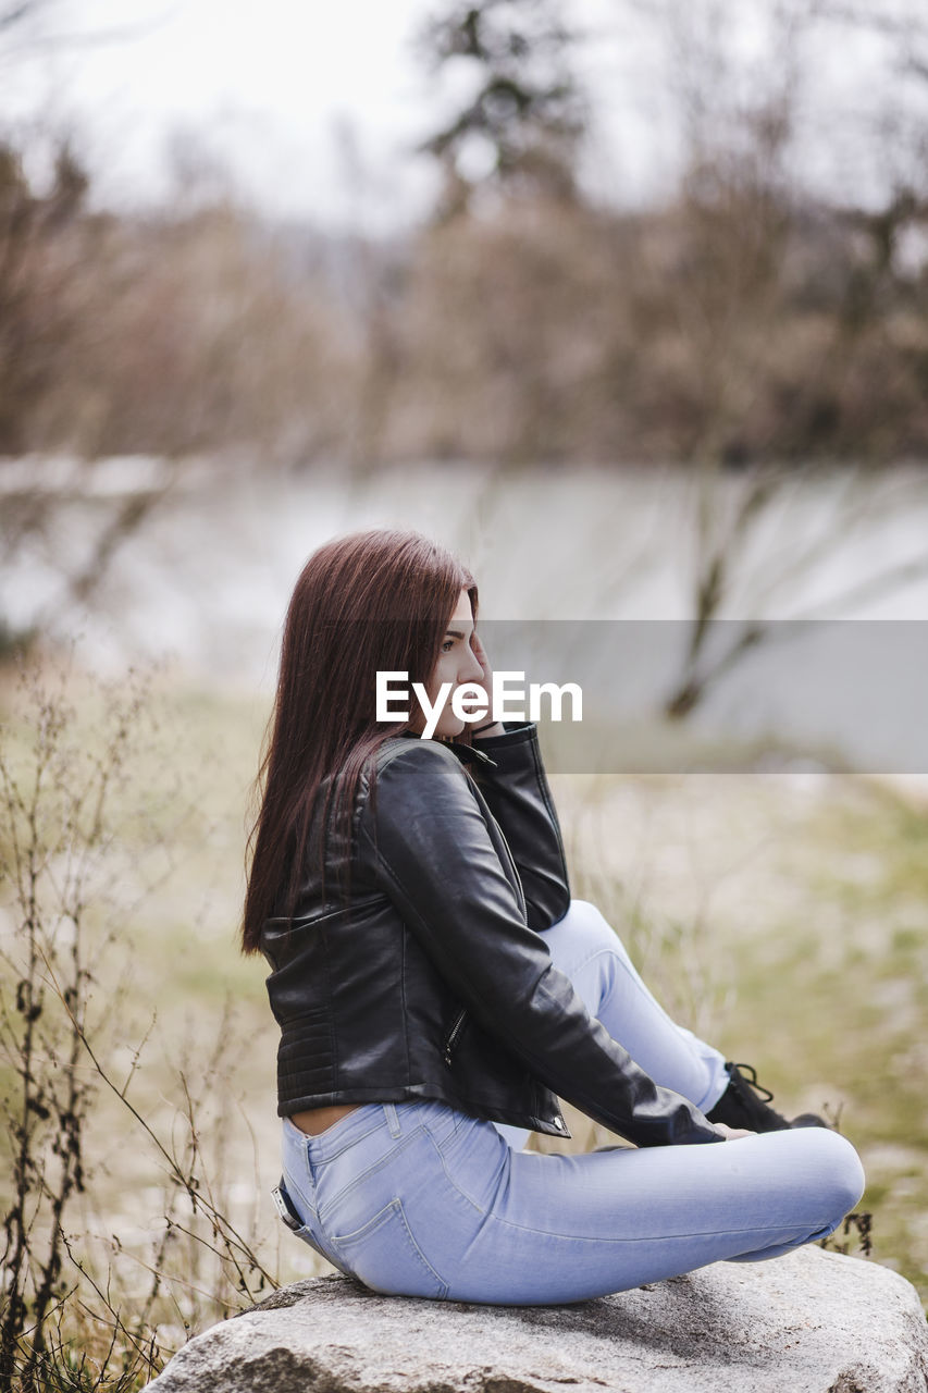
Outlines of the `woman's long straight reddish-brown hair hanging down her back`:
{"label": "woman's long straight reddish-brown hair hanging down her back", "polygon": [[[307,855],[314,805],[339,770],[336,818],[350,820],[361,769],[408,720],[376,720],[376,673],[407,671],[428,684],[457,598],[474,577],[419,532],[375,528],[326,542],[295,584],[284,621],[274,706],[252,787],[259,811],[248,836],[241,951],[261,950],[272,915],[290,917]],[[461,740],[470,744],[471,727]],[[334,793],[332,777],[323,822]],[[325,876],[325,837],[320,864]],[[325,893],[325,890],[323,890]]]}

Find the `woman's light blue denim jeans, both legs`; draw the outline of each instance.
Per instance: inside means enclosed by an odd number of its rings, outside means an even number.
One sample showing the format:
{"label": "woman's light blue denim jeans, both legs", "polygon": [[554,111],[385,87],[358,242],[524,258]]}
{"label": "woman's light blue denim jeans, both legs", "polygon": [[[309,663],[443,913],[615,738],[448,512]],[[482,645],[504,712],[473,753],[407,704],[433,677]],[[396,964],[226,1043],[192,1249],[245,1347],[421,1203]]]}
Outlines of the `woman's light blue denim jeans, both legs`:
{"label": "woman's light blue denim jeans, both legs", "polygon": [[[722,1055],[660,1009],[595,905],[573,900],[543,936],[652,1078],[718,1102]],[[818,1127],[582,1155],[518,1149],[528,1135],[428,1100],[366,1103],[318,1137],[284,1117],[297,1234],[373,1291],[548,1305],[775,1258],[825,1238],[864,1190],[854,1148]]]}

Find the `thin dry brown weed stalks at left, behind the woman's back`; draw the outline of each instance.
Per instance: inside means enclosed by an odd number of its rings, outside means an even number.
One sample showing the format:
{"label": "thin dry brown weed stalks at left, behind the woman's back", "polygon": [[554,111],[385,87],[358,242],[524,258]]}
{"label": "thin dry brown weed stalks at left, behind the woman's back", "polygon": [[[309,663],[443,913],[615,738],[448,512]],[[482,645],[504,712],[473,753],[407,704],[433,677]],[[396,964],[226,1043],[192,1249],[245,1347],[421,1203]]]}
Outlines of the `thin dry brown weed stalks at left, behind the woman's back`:
{"label": "thin dry brown weed stalks at left, behind the woman's back", "polygon": [[277,1284],[258,1176],[230,1177],[254,1041],[229,1003],[139,1081],[160,1028],[132,926],[188,820],[141,766],[156,719],[138,674],[24,664],[0,741],[0,1382],[24,1393],[134,1387]]}

